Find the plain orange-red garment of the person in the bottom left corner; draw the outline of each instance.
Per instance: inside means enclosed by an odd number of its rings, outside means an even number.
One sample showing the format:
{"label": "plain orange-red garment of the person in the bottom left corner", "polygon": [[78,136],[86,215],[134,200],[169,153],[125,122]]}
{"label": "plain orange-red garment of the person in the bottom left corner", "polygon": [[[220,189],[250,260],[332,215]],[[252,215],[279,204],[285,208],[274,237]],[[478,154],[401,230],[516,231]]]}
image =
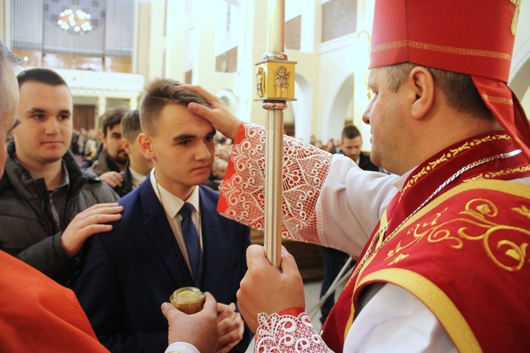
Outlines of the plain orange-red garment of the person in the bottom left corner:
{"label": "plain orange-red garment of the person in the bottom left corner", "polygon": [[108,352],[73,291],[0,251],[2,352]]}

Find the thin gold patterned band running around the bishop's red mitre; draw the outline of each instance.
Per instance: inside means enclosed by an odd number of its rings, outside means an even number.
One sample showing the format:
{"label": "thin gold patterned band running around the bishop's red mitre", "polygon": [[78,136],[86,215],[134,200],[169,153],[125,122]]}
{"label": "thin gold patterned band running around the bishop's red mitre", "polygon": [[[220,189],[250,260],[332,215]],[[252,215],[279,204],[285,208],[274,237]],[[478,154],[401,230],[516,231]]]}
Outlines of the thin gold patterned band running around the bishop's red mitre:
{"label": "thin gold patterned band running around the bishop's red mitre", "polygon": [[430,50],[432,52],[446,52],[449,54],[469,55],[472,57],[493,57],[494,59],[512,60],[512,55],[503,52],[492,52],[490,50],[476,50],[458,47],[447,47],[445,45],[436,45],[423,42],[414,42],[413,40],[399,40],[398,42],[384,43],[375,45],[370,49],[371,52],[381,52],[400,47],[413,47],[418,49]]}

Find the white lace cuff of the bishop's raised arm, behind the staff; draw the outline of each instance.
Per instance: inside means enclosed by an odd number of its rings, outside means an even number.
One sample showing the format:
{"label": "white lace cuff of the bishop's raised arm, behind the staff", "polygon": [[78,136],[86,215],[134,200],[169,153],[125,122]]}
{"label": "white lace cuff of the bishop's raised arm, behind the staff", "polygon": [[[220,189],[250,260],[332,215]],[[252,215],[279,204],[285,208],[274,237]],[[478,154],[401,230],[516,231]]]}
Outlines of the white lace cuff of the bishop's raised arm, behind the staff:
{"label": "white lace cuff of the bishop's raised arm, behind the staff", "polygon": [[[230,156],[219,212],[254,228],[264,228],[265,129],[245,123]],[[240,139],[239,143],[237,141]],[[320,189],[332,155],[292,137],[283,138],[282,236],[326,245],[322,231]],[[319,219],[320,218],[320,219]]]}

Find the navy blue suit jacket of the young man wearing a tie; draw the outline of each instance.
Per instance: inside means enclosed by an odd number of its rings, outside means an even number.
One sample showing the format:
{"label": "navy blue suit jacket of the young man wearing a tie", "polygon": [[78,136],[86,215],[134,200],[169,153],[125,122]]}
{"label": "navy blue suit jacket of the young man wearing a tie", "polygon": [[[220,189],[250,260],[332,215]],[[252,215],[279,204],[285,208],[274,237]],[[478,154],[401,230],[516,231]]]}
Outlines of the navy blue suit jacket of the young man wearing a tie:
{"label": "navy blue suit jacket of the young man wearing a tie", "polygon": [[[202,291],[237,303],[247,270],[249,228],[216,212],[218,192],[200,187]],[[149,178],[119,199],[122,219],[93,236],[72,289],[100,342],[112,352],[164,352],[167,320],[160,305],[175,289],[194,286]]]}

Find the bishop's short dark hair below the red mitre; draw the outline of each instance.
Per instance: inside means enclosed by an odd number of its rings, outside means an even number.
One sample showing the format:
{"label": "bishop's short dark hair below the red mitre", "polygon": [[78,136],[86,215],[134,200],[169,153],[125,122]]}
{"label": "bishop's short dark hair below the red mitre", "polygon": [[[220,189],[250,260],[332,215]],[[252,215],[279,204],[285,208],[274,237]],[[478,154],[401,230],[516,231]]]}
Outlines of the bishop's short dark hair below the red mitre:
{"label": "bishop's short dark hair below the red mitre", "polygon": [[[401,87],[401,83],[404,83],[416,66],[420,65],[405,62],[403,64],[384,66],[387,72],[387,88],[392,92],[397,92]],[[435,86],[444,94],[449,107],[464,114],[495,119],[493,113],[478,94],[470,75],[432,69],[432,67],[427,66],[423,67],[428,69],[432,75]]]}

